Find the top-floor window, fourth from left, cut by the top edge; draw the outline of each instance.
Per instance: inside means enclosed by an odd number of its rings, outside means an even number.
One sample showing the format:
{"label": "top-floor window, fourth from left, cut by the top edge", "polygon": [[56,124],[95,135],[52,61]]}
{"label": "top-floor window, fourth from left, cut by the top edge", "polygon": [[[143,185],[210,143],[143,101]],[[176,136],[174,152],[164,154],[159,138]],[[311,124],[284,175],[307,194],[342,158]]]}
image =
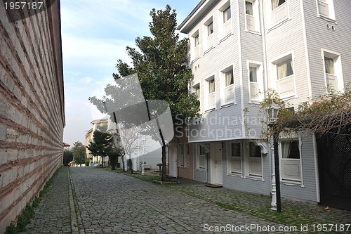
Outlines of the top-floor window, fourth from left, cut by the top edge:
{"label": "top-floor window, fourth from left, cut by the top edge", "polygon": [[260,32],[258,0],[245,1],[246,30]]}

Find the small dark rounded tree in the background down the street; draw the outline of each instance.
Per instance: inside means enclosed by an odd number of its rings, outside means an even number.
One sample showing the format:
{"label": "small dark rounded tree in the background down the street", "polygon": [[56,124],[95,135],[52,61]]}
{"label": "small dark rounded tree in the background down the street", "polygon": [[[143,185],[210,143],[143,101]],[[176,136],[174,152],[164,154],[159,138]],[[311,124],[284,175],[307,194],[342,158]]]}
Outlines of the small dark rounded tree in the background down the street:
{"label": "small dark rounded tree in the background down the street", "polygon": [[111,134],[99,130],[94,131],[93,141],[87,146],[91,154],[102,158],[101,167],[104,167],[104,158],[112,152]]}

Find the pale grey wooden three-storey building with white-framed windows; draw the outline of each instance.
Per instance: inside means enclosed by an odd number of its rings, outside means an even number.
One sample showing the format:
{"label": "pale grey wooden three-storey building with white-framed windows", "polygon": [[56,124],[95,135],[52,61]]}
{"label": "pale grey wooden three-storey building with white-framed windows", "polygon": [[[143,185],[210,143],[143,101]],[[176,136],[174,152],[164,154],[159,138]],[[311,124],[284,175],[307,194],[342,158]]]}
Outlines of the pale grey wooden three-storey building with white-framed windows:
{"label": "pale grey wooden three-storey building with white-framed windows", "polygon": [[[191,88],[201,103],[201,119],[187,129],[195,180],[272,193],[260,101],[274,89],[297,107],[351,82],[350,8],[333,0],[199,2],[178,27],[189,38]],[[321,201],[318,157],[314,135],[280,138],[282,196]]]}

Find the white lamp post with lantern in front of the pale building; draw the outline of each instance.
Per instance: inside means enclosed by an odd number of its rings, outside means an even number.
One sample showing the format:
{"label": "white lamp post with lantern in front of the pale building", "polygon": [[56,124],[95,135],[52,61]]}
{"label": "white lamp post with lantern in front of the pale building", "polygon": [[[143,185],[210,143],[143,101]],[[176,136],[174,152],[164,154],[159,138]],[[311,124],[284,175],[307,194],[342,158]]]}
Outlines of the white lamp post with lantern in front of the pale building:
{"label": "white lamp post with lantern in front of the pale building", "polygon": [[280,171],[279,171],[279,152],[278,152],[278,141],[280,129],[277,125],[279,108],[272,106],[267,109],[268,114],[268,126],[273,129],[273,147],[274,147],[274,171],[272,173],[272,208],[277,212],[282,212],[282,200],[280,196]]}

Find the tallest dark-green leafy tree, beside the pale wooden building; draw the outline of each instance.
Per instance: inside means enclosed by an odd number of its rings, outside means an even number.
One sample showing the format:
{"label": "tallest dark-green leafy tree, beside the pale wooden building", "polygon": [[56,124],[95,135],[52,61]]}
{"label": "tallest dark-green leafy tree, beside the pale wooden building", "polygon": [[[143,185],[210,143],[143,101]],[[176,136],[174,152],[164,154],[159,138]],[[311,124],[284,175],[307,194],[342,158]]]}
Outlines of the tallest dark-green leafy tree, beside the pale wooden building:
{"label": "tallest dark-green leafy tree, beside the pale wooden building", "polygon": [[[196,117],[199,111],[199,101],[196,96],[188,91],[192,81],[192,71],[187,67],[187,39],[179,40],[176,34],[176,11],[171,6],[165,10],[150,12],[150,32],[152,37],[138,37],[135,44],[138,47],[127,47],[128,56],[132,59],[133,67],[122,60],[117,62],[117,74],[114,79],[138,74],[143,95],[147,100],[165,100],[170,109],[173,119],[173,127],[182,124],[186,117]],[[107,96],[118,101],[113,96],[113,86],[107,86]],[[90,98],[91,103],[96,105],[100,111],[103,100]],[[105,98],[106,100],[106,98]],[[105,111],[106,112],[106,111]],[[166,180],[166,145],[162,145],[162,181]]]}

